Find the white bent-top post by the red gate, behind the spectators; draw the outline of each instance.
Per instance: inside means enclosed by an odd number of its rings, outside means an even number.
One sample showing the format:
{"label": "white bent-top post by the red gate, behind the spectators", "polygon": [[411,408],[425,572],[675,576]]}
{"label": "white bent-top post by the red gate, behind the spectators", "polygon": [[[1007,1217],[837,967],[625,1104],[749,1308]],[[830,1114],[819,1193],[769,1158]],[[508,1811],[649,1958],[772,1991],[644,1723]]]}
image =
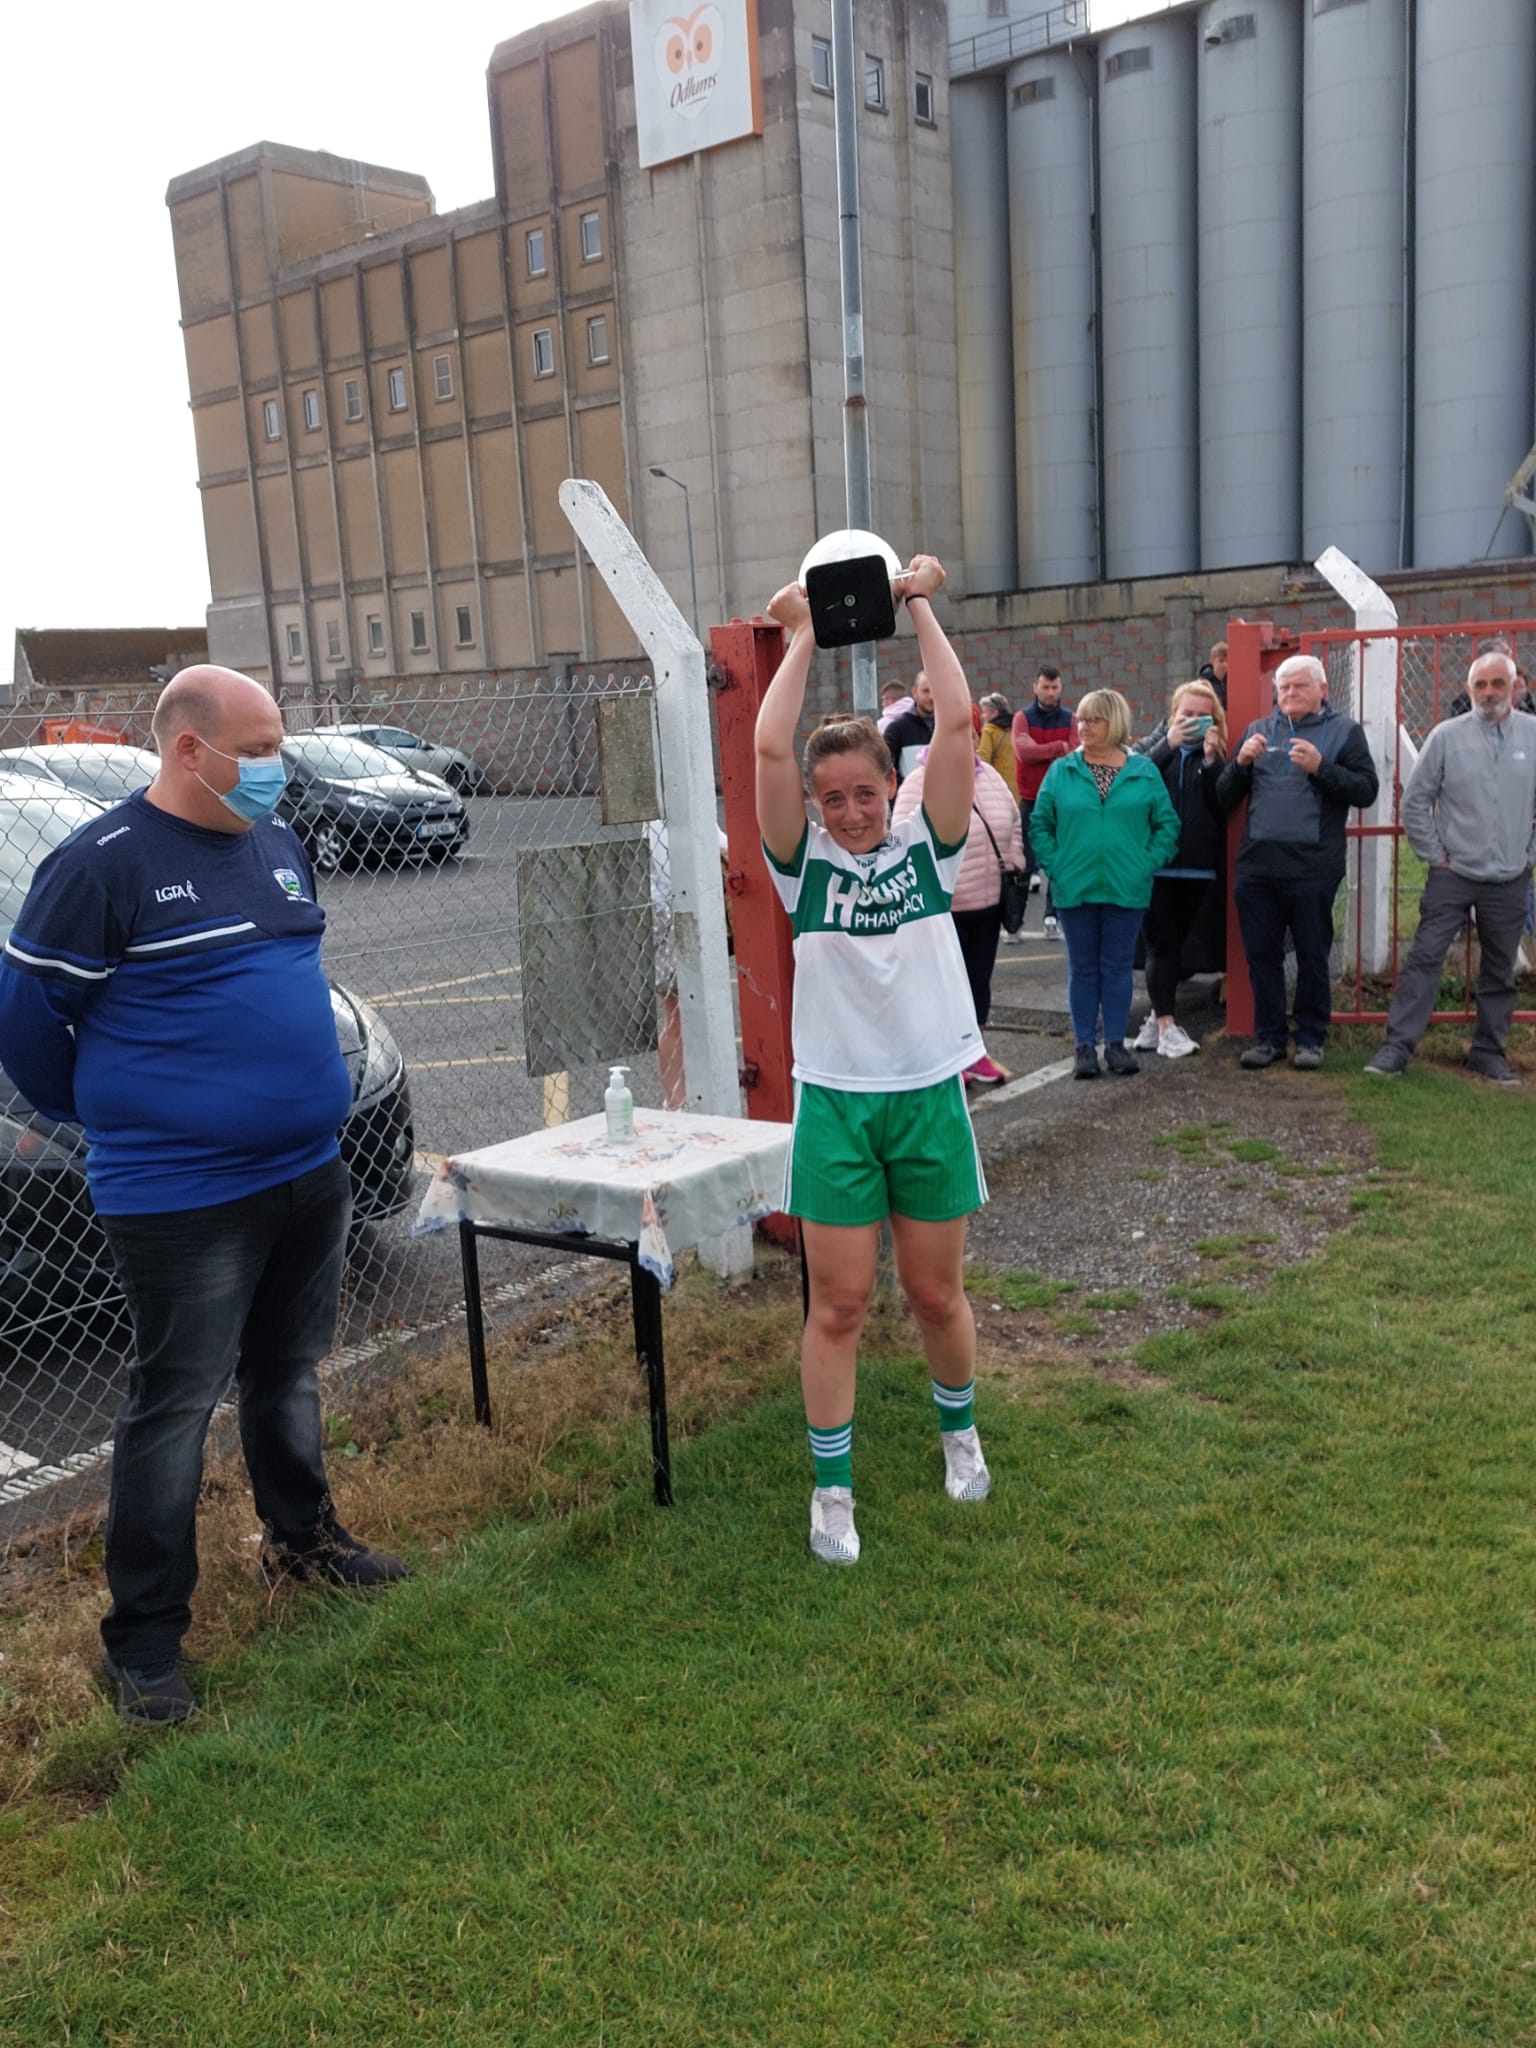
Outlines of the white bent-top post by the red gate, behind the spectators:
{"label": "white bent-top post by the red gate, behind the spectators", "polygon": [[[1397,606],[1380,584],[1374,584],[1343,549],[1323,549],[1313,567],[1325,584],[1337,590],[1354,612],[1356,633],[1397,633]],[[1386,637],[1364,637],[1356,645],[1350,674],[1354,707],[1339,707],[1354,711],[1370,743],[1370,758],[1376,762],[1380,788],[1372,807],[1362,813],[1368,825],[1393,823],[1393,782],[1399,770],[1407,782],[1413,762],[1419,758],[1411,735],[1397,721],[1397,639]],[[1356,891],[1364,899],[1358,963],[1354,961]],[[1343,956],[1366,975],[1378,975],[1391,963],[1393,842],[1389,838],[1372,836],[1360,842],[1360,866],[1350,879],[1350,918],[1343,932]]]}

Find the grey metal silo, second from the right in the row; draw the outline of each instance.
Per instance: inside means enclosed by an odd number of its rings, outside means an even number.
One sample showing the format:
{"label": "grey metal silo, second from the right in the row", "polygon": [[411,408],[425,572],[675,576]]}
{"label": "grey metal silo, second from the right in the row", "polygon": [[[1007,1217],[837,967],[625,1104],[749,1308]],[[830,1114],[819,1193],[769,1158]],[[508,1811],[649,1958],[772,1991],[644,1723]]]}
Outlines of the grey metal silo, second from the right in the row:
{"label": "grey metal silo, second from the right in the row", "polygon": [[1300,547],[1403,565],[1407,31],[1413,0],[1307,6]]}

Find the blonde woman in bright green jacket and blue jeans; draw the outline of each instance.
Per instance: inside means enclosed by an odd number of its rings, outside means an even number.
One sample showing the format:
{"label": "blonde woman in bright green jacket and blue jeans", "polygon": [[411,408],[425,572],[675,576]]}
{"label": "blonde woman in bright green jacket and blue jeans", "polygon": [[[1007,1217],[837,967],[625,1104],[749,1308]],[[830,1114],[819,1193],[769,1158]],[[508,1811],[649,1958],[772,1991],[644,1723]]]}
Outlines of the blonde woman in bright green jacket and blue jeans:
{"label": "blonde woman in bright green jacket and blue jeans", "polygon": [[1178,811],[1161,774],[1130,752],[1130,705],[1118,690],[1090,690],[1077,705],[1081,745],[1047,768],[1030,815],[1030,850],[1051,877],[1067,940],[1067,1006],[1077,1040],[1075,1075],[1098,1071],[1094,1036],[1104,1018],[1104,1065],[1141,1073],[1126,1047],[1137,934],[1157,868],[1180,842]]}

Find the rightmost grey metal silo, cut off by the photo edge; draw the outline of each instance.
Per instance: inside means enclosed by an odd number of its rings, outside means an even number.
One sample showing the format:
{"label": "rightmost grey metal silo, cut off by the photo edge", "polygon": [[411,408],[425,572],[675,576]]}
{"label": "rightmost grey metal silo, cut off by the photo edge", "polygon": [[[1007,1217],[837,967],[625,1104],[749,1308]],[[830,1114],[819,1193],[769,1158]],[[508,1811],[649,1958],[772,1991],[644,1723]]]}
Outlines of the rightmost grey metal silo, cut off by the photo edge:
{"label": "rightmost grey metal silo, cut off by the photo edge", "polygon": [[[1532,444],[1536,4],[1419,0],[1413,563],[1475,561]],[[1524,555],[1505,518],[1495,555]]]}

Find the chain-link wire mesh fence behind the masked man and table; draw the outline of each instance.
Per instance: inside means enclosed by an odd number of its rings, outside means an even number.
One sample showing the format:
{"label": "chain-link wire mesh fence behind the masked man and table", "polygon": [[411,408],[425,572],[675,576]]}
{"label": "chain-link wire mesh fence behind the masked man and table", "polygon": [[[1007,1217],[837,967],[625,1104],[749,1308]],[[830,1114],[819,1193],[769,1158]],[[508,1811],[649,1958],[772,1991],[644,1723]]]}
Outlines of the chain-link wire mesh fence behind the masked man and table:
{"label": "chain-link wire mesh fence behind the masked man and table", "polygon": [[[4,932],[47,850],[94,817],[94,803],[154,776],[156,694],[29,707],[0,729]],[[657,784],[653,754],[641,745],[631,764],[623,823],[604,823],[600,778],[600,711],[639,707],[647,737],[649,676],[401,682],[369,694],[350,709],[283,696],[281,815],[315,866],[352,1075],[342,1155],[354,1231],[338,1352],[457,1315],[457,1239],[410,1235],[442,1155],[596,1112],[614,1061],[631,1067],[639,1102],[680,1083],[678,1073],[664,1083],[657,1051],[676,997],[668,840],[645,815],[657,809],[645,791],[647,776]],[[66,737],[43,743],[45,721]],[[0,1554],[55,1511],[66,1481],[100,1485],[131,1350],[80,1133],[35,1116],[10,1083],[4,1098]]]}

